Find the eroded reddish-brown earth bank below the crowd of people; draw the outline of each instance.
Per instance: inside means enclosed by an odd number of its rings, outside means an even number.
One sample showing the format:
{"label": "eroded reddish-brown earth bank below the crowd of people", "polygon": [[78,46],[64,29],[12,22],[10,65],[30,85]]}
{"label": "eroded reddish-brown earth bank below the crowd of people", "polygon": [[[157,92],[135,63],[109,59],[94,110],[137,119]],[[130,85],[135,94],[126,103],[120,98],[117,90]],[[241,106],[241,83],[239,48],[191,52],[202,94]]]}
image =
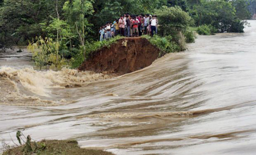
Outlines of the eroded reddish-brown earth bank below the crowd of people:
{"label": "eroded reddish-brown earth bank below the crowd of people", "polygon": [[93,52],[78,70],[126,74],[151,65],[158,57],[159,49],[146,38],[123,38]]}

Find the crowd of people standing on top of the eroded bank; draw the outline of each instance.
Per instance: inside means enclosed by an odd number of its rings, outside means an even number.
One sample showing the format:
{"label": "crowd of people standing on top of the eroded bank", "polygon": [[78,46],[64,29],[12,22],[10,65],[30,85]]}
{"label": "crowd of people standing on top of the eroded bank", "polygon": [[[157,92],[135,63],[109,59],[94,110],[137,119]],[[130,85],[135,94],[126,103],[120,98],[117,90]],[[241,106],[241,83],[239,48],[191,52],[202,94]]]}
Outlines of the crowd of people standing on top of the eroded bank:
{"label": "crowd of people standing on top of the eroded bank", "polygon": [[100,41],[108,40],[116,35],[126,37],[139,37],[144,34],[154,36],[158,33],[158,19],[155,15],[141,14],[120,16],[113,23],[107,22],[100,27]]}

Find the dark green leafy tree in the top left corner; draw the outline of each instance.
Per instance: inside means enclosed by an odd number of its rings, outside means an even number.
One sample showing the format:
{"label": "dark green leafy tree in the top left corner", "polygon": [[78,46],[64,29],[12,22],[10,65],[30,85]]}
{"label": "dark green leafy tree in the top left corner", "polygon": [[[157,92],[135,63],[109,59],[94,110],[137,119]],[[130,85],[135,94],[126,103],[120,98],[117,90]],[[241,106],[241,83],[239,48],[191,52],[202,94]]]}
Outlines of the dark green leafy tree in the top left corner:
{"label": "dark green leafy tree in the top left corner", "polygon": [[47,23],[51,17],[56,17],[52,0],[3,0],[0,36],[4,44],[26,44],[38,34],[44,35],[40,23]]}

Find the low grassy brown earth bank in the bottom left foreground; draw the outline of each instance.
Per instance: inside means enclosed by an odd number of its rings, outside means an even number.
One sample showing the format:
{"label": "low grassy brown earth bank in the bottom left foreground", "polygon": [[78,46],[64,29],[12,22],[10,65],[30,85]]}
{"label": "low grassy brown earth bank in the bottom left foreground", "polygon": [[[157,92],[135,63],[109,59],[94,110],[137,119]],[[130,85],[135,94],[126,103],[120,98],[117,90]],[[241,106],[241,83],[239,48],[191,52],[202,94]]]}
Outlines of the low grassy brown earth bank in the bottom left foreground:
{"label": "low grassy brown earth bank in the bottom left foreground", "polygon": [[8,149],[3,155],[114,155],[101,150],[79,148],[75,140],[43,140],[32,144]]}

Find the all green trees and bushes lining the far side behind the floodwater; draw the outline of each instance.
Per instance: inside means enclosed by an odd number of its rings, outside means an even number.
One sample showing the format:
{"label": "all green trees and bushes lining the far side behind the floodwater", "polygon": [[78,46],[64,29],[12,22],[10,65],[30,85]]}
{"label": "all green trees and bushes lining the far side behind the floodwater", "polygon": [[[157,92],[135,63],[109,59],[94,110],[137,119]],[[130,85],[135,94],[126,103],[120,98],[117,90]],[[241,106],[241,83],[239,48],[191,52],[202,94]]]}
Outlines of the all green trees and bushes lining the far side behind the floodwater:
{"label": "all green trees and bushes lining the far side behind the floodwater", "polygon": [[124,13],[158,15],[158,36],[146,37],[160,56],[185,50],[198,34],[243,32],[254,0],[0,0],[0,48],[29,45],[40,68],[78,67],[121,37],[99,39],[98,29]]}

